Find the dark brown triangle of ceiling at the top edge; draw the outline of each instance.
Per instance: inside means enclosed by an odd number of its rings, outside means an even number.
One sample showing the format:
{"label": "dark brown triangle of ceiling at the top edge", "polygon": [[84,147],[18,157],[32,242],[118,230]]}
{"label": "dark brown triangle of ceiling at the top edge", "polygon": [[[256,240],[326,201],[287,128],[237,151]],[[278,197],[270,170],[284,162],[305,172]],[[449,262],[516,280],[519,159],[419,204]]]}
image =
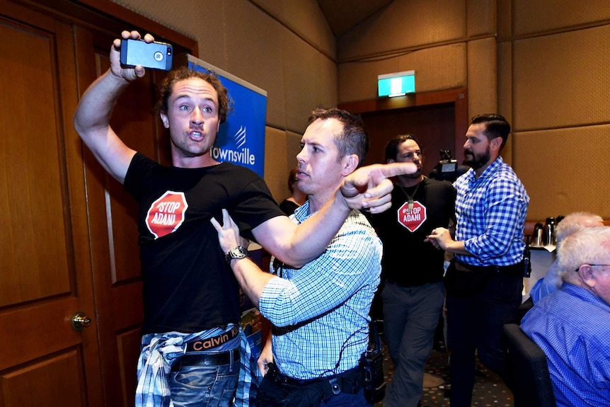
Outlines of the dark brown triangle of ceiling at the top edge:
{"label": "dark brown triangle of ceiling at the top edge", "polygon": [[392,1],[318,0],[318,5],[330,25],[330,30],[333,30],[335,36],[339,36]]}

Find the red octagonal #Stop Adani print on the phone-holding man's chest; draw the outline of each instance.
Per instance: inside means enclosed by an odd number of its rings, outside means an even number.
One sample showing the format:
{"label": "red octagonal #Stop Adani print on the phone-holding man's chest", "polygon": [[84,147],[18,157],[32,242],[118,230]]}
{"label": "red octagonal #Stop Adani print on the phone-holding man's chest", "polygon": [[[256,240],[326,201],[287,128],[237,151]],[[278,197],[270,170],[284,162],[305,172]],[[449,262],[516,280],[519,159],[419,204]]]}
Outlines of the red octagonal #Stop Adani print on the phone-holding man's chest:
{"label": "red octagonal #Stop Adani print on the phone-holding man's chest", "polygon": [[186,208],[184,193],[167,191],[152,203],[146,214],[146,227],[155,239],[171,234],[183,224]]}

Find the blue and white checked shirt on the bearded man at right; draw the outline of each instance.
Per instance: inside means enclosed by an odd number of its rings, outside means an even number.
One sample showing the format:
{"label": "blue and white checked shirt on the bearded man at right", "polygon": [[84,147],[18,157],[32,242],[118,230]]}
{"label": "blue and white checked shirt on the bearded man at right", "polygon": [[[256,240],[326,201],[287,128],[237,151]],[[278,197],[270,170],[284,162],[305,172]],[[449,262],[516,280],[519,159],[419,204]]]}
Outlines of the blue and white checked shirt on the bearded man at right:
{"label": "blue and white checked shirt on the bearded man at right", "polygon": [[479,178],[471,168],[459,177],[456,240],[472,256],[456,255],[470,265],[513,265],[523,258],[523,229],[529,196],[512,168],[498,157]]}

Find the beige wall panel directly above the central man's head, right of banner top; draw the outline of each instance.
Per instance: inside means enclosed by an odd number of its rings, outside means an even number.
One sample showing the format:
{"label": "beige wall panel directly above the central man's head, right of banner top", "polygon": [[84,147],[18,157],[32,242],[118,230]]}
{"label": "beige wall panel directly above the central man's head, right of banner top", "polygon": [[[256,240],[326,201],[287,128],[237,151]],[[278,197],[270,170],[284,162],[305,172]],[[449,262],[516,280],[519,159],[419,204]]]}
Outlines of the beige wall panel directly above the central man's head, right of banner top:
{"label": "beige wall panel directly above the central man's head, right of banner top", "polygon": [[282,36],[282,47],[286,128],[302,132],[311,110],[321,104],[318,88],[323,55],[292,34]]}

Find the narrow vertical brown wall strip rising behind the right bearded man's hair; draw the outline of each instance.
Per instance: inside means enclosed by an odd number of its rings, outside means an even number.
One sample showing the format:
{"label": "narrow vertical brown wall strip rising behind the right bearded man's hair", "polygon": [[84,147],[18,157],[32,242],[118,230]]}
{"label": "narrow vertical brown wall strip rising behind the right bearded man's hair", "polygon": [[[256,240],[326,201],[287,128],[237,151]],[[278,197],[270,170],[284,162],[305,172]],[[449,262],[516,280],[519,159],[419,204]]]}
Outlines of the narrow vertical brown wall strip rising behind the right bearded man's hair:
{"label": "narrow vertical brown wall strip rising behind the right bearded man's hair", "polygon": [[[468,89],[470,90],[470,89]],[[470,100],[470,99],[468,99]],[[512,124],[512,43],[502,42],[497,46],[497,113]],[[508,137],[502,158],[512,164],[514,137]]]}

